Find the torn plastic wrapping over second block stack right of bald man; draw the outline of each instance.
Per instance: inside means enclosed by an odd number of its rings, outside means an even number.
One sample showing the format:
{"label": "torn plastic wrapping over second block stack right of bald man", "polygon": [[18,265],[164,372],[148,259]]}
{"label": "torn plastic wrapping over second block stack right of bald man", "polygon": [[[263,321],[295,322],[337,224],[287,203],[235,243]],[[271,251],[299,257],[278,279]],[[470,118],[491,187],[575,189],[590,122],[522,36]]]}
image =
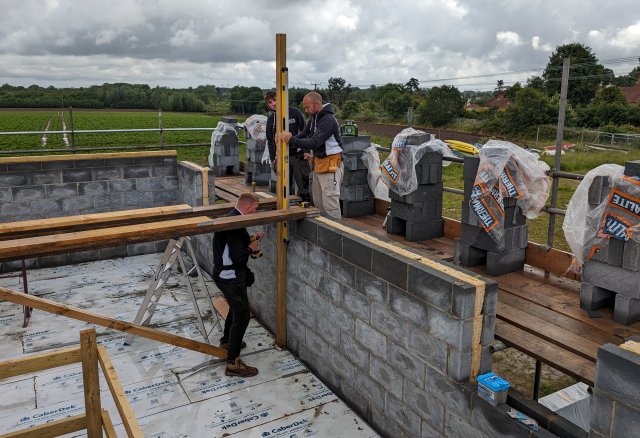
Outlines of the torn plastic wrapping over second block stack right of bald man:
{"label": "torn plastic wrapping over second block stack right of bald man", "polygon": [[[407,145],[409,137],[424,134],[424,131],[405,128],[393,139],[391,153],[381,165],[382,181],[389,190],[399,195],[408,195],[418,188],[415,168],[425,152],[439,152],[444,157],[455,157],[449,146],[442,140],[436,139],[433,134],[429,141],[418,146]],[[449,164],[450,162],[443,161],[443,165]]]}

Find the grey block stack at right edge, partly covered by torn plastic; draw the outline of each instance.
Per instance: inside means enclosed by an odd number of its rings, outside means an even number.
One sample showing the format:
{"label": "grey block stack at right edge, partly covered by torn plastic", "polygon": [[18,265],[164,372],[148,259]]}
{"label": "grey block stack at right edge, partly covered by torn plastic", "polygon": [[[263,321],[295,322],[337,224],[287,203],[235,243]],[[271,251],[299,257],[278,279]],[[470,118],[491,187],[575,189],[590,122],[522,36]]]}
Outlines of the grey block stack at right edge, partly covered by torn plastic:
{"label": "grey block stack at right edge, partly covered by torn plastic", "polygon": [[[640,177],[640,160],[625,163],[624,174]],[[609,195],[609,178],[598,176],[589,187],[589,207]],[[613,304],[613,319],[620,324],[640,321],[640,244],[610,238],[585,262],[580,285],[580,307],[596,310]]]}

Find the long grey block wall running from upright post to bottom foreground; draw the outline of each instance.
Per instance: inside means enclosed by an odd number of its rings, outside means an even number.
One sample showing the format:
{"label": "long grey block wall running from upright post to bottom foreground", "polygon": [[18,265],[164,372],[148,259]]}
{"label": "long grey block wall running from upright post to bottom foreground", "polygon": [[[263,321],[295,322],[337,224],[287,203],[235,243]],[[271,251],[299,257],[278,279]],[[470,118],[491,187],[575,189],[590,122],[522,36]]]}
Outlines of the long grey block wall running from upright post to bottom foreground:
{"label": "long grey block wall running from upright post to bottom foreground", "polygon": [[[468,383],[472,285],[317,219],[289,227],[288,348],[383,436],[553,436],[515,423]],[[250,261],[249,300],[275,332],[275,227],[257,230],[265,255]],[[482,372],[497,306],[486,281]]]}

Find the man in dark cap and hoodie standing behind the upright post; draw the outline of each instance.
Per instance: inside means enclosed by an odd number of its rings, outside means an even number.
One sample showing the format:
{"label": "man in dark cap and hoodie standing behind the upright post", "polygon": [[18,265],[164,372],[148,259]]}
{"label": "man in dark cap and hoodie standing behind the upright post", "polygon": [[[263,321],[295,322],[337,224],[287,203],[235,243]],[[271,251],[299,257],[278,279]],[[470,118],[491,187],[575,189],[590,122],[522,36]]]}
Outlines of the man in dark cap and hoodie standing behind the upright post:
{"label": "man in dark cap and hoodie standing behind the upright post", "polygon": [[[268,91],[264,95],[264,101],[271,110],[267,118],[267,145],[269,146],[269,158],[276,162],[276,92]],[[289,132],[297,135],[304,128],[304,116],[298,108],[289,107]],[[275,167],[274,167],[275,169]],[[297,195],[303,202],[311,201],[309,193],[309,162],[304,158],[300,149],[289,148],[289,175],[291,181],[295,181],[298,188]]]}

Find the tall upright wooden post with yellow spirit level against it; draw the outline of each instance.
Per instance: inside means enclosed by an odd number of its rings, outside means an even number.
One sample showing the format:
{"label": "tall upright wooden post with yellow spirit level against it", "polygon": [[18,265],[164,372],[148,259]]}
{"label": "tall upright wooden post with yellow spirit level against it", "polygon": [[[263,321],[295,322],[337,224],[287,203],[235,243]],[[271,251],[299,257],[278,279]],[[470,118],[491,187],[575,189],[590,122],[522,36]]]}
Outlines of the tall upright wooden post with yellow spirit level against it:
{"label": "tall upright wooden post with yellow spirit level against it", "polygon": [[[288,128],[289,102],[287,96],[287,36],[276,35],[276,132]],[[284,141],[277,146],[276,198],[278,209],[288,208],[289,153]],[[276,238],[276,344],[287,346],[287,240],[286,222],[278,222]]]}

